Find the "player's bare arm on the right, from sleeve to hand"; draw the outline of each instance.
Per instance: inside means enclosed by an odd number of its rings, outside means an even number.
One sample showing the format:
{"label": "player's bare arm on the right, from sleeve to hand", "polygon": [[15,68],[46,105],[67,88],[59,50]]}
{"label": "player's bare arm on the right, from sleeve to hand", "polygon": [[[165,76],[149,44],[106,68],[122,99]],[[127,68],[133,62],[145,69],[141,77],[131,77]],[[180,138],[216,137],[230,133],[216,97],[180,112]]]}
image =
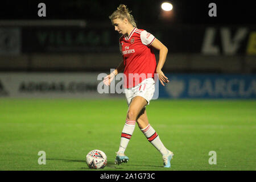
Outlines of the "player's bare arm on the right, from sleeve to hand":
{"label": "player's bare arm on the right, from sleeve to hand", "polygon": [[151,46],[154,47],[155,49],[159,50],[159,61],[158,61],[158,65],[156,67],[156,73],[159,74],[158,75],[159,80],[160,80],[161,84],[164,86],[164,82],[166,82],[166,83],[169,82],[168,78],[162,72],[164,62],[166,61],[166,56],[167,56],[167,53],[168,53],[168,49],[158,39],[155,39],[154,42],[152,42]]}

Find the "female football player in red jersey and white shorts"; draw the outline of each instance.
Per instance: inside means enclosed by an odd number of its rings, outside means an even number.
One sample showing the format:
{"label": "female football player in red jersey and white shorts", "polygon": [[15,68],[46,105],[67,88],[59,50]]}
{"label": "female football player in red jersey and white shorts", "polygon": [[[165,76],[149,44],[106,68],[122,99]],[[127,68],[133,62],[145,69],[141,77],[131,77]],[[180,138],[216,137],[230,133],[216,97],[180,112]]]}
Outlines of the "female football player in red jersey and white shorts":
{"label": "female football player in red jersey and white shorts", "polygon": [[[163,155],[164,167],[171,167],[170,161],[174,154],[164,147],[159,135],[148,123],[146,113],[146,105],[150,103],[155,92],[155,73],[158,73],[159,81],[163,86],[164,82],[169,82],[161,71],[166,61],[168,49],[152,34],[146,30],[138,29],[133,15],[130,13],[131,11],[125,5],[120,5],[109,16],[115,31],[122,35],[119,38],[119,47],[123,61],[112,73],[104,78],[104,84],[110,85],[114,76],[124,69],[125,96],[129,106],[115,163],[127,163],[129,160],[125,155],[125,150],[131,135],[133,135],[135,123],[138,123],[147,140]],[[153,48],[159,50],[158,65],[156,65]]]}

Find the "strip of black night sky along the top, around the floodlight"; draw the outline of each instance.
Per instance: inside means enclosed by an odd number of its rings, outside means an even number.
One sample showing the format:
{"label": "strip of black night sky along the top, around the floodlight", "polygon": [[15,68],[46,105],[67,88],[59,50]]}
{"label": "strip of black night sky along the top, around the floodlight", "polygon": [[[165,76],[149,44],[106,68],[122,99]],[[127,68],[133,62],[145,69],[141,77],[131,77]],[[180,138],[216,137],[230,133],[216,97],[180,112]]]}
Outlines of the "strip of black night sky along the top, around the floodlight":
{"label": "strip of black night sky along the top, around the floodlight", "polygon": [[[38,4],[46,3],[47,16],[39,18]],[[254,24],[255,1],[187,1],[172,0],[175,14],[172,23],[178,24]],[[209,3],[217,5],[217,17],[209,17]],[[162,1],[5,1],[1,2],[1,19],[85,19],[90,22],[106,22],[108,16],[119,4],[125,4],[132,10],[138,23],[159,22]],[[143,11],[143,13],[142,13]],[[145,12],[146,11],[146,12]]]}

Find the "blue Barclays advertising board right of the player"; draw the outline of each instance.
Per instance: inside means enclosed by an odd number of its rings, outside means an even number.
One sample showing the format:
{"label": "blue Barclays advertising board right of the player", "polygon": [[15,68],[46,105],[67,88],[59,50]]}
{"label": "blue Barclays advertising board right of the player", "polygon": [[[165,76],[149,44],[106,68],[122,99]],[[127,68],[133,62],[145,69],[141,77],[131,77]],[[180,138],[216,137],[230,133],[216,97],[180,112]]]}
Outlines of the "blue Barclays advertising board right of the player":
{"label": "blue Barclays advertising board right of the player", "polygon": [[256,75],[165,74],[159,98],[256,98]]}

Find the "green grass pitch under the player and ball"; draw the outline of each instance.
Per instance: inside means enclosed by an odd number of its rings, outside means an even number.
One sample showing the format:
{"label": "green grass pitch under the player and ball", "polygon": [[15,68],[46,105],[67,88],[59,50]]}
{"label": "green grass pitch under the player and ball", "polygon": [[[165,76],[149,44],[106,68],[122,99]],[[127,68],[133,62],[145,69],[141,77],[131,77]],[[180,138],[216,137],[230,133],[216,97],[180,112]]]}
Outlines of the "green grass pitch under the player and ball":
{"label": "green grass pitch under the player and ball", "polygon": [[[114,164],[125,123],[125,98],[113,100],[0,99],[0,170],[95,170],[85,156],[108,156],[100,170],[255,170],[255,100],[152,100],[150,124],[174,152],[171,168],[135,127],[130,160]],[[46,165],[39,165],[39,151]],[[216,151],[217,164],[209,164]]]}

